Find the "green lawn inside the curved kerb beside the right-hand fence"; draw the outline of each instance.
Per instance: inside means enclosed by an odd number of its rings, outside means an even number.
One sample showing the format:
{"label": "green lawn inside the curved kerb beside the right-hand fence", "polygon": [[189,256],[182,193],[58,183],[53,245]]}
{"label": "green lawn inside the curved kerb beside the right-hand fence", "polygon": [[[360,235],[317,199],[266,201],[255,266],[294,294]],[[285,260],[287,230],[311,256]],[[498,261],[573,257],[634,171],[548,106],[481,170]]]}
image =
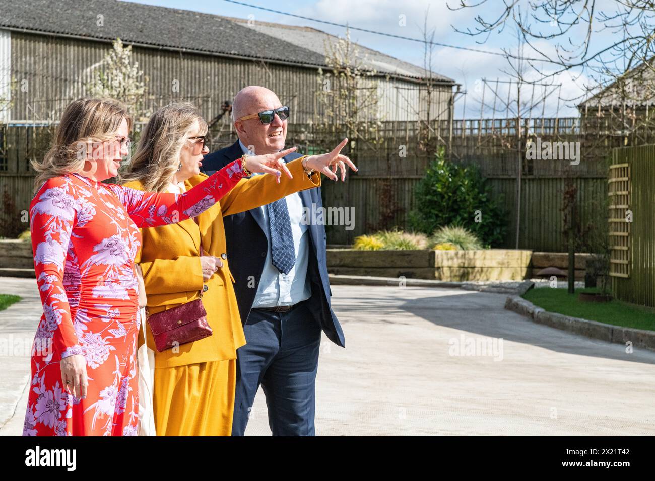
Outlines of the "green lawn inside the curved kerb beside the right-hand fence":
{"label": "green lawn inside the curved kerb beside the right-hand fence", "polygon": [[655,330],[654,309],[634,306],[618,300],[580,302],[578,294],[581,292],[597,292],[597,289],[576,289],[575,294],[569,294],[567,289],[541,287],[527,291],[523,298],[549,312],[581,317],[582,319],[589,319],[589,321],[598,321],[615,326]]}

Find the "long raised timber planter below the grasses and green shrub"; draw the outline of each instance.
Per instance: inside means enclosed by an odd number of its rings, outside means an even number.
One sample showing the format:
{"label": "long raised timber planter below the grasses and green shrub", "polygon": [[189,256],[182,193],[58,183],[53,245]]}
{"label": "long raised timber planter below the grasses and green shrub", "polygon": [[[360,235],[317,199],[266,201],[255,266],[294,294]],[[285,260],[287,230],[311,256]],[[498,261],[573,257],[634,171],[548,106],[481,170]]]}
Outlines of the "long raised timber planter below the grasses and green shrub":
{"label": "long raised timber planter below the grasses and green shrub", "polygon": [[440,281],[525,279],[532,251],[354,251],[328,249],[327,270],[344,276],[379,276]]}

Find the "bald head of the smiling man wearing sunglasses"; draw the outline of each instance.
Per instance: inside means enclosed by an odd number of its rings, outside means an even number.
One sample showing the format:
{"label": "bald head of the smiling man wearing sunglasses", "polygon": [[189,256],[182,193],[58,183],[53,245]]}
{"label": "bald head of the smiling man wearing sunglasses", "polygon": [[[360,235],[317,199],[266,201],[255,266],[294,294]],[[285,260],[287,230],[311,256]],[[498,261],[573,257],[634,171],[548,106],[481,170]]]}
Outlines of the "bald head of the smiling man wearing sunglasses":
{"label": "bald head of the smiling man wearing sunglasses", "polygon": [[234,128],[240,141],[257,155],[273,154],[284,149],[287,120],[280,120],[278,115],[274,116],[270,124],[262,124],[259,117],[248,120],[238,119],[279,107],[282,107],[280,99],[275,92],[266,87],[249,85],[234,96],[232,103]]}

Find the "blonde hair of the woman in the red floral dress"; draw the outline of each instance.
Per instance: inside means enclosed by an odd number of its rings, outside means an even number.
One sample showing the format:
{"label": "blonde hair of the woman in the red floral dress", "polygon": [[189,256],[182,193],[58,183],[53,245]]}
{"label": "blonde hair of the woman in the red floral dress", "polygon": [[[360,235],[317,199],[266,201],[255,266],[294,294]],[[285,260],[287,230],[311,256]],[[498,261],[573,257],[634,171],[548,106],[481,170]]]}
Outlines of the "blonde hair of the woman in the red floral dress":
{"label": "blonde hair of the woman in the red floral dress", "polygon": [[81,98],[69,103],[55,132],[52,147],[43,160],[30,162],[37,171],[34,193],[52,177],[81,172],[86,156],[79,154],[80,145],[113,140],[123,119],[127,120],[130,130],[132,118],[124,103],[116,99]]}

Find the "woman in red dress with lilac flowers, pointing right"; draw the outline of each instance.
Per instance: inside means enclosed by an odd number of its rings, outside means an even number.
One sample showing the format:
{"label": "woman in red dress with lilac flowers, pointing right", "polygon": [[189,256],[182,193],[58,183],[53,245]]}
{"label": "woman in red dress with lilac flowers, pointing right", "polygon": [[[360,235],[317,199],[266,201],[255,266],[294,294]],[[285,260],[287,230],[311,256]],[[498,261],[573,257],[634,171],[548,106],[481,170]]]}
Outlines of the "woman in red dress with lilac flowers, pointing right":
{"label": "woman in red dress with lilac flowers, pointing right", "polygon": [[294,150],[235,160],[185,194],[142,192],[101,182],[117,175],[129,130],[118,101],[73,101],[52,149],[33,164],[30,229],[43,315],[24,435],[136,435],[138,228],[195,217],[248,170],[280,175],[280,158]]}

